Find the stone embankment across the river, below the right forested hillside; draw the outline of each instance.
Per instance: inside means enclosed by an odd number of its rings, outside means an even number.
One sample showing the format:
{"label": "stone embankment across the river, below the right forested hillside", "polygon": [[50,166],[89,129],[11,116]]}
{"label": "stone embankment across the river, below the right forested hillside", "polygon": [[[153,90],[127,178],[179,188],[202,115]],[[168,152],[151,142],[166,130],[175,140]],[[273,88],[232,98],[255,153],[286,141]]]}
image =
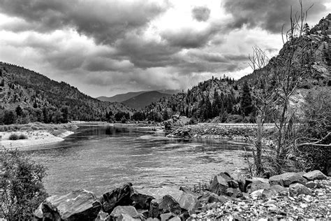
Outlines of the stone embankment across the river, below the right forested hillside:
{"label": "stone embankment across the river, below the right forested hillside", "polygon": [[186,125],[172,129],[167,135],[173,138],[221,138],[221,139],[247,139],[256,136],[256,127],[245,125],[231,127],[219,124]]}

